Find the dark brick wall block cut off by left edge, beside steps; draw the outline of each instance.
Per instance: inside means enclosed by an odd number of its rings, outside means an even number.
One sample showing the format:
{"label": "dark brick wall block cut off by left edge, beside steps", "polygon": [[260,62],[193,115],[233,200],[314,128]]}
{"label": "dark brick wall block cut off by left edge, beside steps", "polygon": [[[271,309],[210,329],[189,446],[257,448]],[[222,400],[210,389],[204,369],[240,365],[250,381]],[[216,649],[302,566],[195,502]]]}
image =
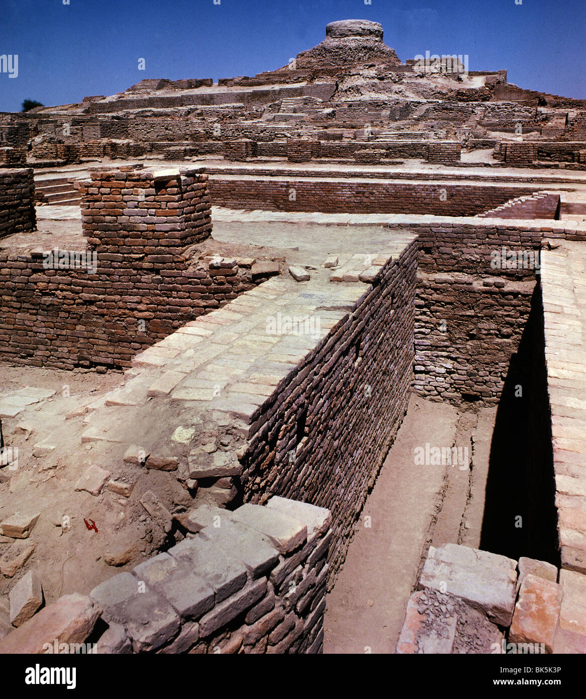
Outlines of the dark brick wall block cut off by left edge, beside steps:
{"label": "dark brick wall block cut off by left edge, beside steps", "polygon": [[0,170],[0,238],[36,231],[32,168]]}

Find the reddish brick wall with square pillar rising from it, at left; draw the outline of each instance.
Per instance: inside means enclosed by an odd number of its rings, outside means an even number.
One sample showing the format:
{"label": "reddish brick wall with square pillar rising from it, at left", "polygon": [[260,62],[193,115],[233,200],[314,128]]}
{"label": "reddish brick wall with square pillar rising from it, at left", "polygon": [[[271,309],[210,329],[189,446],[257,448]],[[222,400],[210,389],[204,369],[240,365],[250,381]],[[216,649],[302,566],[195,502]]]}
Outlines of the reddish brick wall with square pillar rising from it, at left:
{"label": "reddish brick wall with square pillar rising from it, at left", "polygon": [[89,264],[59,268],[59,254],[40,248],[1,251],[0,357],[130,366],[141,349],[256,285],[235,259],[192,259],[191,246],[212,230],[206,183],[197,170],[94,173],[82,187],[87,247],[61,251]]}

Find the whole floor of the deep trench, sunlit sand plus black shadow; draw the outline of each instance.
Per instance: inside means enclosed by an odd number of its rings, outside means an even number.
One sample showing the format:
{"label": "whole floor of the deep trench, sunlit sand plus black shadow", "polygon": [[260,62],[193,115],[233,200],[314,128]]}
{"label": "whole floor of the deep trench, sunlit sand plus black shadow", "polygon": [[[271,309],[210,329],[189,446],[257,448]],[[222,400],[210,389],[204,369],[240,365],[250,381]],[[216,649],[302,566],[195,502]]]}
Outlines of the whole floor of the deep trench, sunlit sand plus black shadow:
{"label": "whole floor of the deep trench, sunlit sand plus black shadow", "polygon": [[448,542],[559,566],[539,283],[498,405],[411,395],[328,594],[324,652],[394,653],[427,551]]}

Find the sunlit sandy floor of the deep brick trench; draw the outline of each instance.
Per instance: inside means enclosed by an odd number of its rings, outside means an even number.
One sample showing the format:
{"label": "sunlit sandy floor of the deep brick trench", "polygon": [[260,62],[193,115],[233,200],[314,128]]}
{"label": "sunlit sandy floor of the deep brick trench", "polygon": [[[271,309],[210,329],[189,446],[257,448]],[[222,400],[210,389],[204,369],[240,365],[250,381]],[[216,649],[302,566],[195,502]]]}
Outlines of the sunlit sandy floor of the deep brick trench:
{"label": "sunlit sandy floor of the deep brick trench", "polygon": [[[411,396],[397,439],[356,523],[342,571],[328,593],[324,653],[394,653],[407,601],[430,545],[478,546],[486,447],[495,414],[496,408],[460,412],[446,403]],[[416,465],[414,450],[426,442],[468,446],[471,469]],[[477,473],[481,477],[473,477]]]}

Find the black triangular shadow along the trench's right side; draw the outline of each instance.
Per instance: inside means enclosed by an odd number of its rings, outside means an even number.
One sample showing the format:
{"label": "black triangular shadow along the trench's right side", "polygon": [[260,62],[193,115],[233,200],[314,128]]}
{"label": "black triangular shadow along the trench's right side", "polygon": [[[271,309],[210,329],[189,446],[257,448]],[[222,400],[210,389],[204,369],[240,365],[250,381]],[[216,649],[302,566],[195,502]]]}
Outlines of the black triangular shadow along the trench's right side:
{"label": "black triangular shadow along the trench's right side", "polygon": [[529,556],[559,566],[539,283],[497,408],[480,547],[512,559]]}

